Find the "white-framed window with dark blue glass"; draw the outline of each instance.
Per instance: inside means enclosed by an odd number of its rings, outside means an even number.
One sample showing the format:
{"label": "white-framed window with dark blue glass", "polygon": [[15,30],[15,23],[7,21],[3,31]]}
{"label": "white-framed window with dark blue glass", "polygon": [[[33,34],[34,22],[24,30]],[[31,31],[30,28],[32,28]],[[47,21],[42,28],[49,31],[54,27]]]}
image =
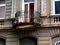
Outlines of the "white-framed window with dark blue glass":
{"label": "white-framed window with dark blue glass", "polygon": [[60,0],[51,0],[51,13],[60,14]]}

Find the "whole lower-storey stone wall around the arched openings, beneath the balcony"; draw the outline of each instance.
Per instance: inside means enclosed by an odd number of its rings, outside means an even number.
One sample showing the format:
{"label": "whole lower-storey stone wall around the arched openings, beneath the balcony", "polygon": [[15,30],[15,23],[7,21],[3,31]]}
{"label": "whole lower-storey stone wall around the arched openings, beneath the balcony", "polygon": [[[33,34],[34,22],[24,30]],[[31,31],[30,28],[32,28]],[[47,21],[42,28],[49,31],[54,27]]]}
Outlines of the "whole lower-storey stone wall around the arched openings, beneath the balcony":
{"label": "whole lower-storey stone wall around the arched openings, beneath the balcony", "polygon": [[6,45],[19,45],[19,39],[23,37],[37,38],[37,45],[54,45],[55,41],[60,40],[60,28],[49,27],[37,30],[20,30],[20,31],[2,31],[0,38],[6,39]]}

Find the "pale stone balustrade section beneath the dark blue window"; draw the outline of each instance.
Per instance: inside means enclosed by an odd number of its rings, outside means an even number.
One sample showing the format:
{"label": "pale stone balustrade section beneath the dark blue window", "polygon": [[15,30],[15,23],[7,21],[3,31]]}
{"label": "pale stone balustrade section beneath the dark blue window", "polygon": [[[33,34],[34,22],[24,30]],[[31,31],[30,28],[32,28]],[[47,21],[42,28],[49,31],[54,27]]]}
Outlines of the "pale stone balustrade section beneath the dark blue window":
{"label": "pale stone balustrade section beneath the dark blue window", "polygon": [[41,19],[41,27],[60,27],[60,17],[53,16]]}

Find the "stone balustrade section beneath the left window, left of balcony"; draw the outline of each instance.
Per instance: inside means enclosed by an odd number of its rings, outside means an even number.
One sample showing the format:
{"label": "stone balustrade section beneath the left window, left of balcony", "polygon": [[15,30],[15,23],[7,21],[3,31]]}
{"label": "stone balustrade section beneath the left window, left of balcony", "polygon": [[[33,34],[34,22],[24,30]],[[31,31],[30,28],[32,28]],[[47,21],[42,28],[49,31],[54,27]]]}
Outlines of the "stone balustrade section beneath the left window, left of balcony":
{"label": "stone balustrade section beneath the left window, left of balcony", "polygon": [[14,20],[13,18],[1,18],[0,19],[0,30],[2,29],[12,29],[12,20]]}

